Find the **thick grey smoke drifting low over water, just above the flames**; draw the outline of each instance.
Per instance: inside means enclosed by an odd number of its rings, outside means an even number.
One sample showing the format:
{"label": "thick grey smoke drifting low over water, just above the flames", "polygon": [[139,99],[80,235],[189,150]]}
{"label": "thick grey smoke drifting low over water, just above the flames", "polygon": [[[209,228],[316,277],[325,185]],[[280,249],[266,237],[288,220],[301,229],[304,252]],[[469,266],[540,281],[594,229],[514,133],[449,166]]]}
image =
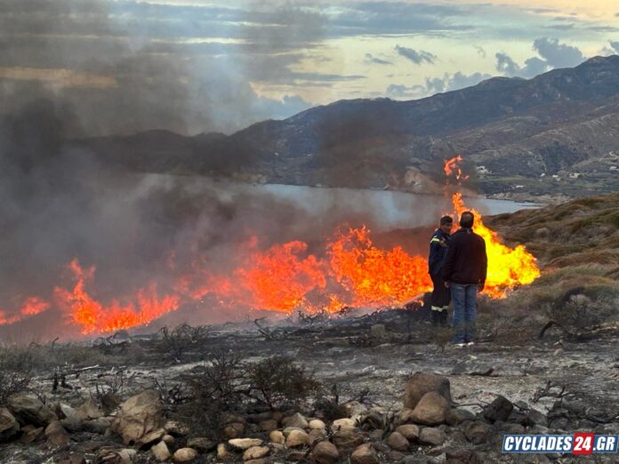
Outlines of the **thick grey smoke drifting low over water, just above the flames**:
{"label": "thick grey smoke drifting low over water, just above the flames", "polygon": [[[119,171],[72,148],[67,124],[78,124],[70,108],[42,100],[4,118],[0,132],[0,308],[9,319],[30,298],[49,302],[20,323],[32,333],[39,325],[44,336],[75,332],[54,299],[54,289],[72,287],[68,264],[75,259],[96,268],[90,284],[100,300],[131,299],[153,283],[161,296],[197,261],[218,275],[231,273],[253,240],[258,250],[300,240],[320,255],[342,223],[381,231],[422,224],[446,208],[388,192],[379,201],[346,189],[312,193]],[[403,208],[409,219],[402,220]],[[190,322],[221,319],[217,308],[202,307],[193,317],[196,310],[185,313]]]}

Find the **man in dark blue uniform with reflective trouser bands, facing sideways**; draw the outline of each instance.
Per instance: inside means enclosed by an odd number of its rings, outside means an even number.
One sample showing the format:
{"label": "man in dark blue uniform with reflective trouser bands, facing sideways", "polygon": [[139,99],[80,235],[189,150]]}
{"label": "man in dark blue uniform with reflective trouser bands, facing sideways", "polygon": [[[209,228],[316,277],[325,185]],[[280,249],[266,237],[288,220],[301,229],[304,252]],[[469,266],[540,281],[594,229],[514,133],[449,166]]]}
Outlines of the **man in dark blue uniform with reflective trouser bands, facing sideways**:
{"label": "man in dark blue uniform with reflective trouser bands, facing sideways", "polygon": [[447,254],[449,234],[454,220],[450,216],[440,219],[440,226],[430,238],[430,257],[428,258],[428,271],[434,288],[432,289],[432,325],[447,325],[447,307],[449,306],[450,294],[441,275],[443,263]]}

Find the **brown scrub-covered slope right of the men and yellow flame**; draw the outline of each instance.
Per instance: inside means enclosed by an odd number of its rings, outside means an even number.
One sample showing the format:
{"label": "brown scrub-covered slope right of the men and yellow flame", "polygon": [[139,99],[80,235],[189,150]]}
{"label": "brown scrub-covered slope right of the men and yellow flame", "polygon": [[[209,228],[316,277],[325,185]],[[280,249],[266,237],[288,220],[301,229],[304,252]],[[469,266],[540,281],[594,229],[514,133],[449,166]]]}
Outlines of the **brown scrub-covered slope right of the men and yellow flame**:
{"label": "brown scrub-covered slope right of the men and yellow flame", "polygon": [[519,326],[522,333],[559,329],[561,336],[576,340],[603,333],[616,337],[619,193],[499,214],[484,222],[509,244],[525,244],[542,270],[533,284],[507,299],[482,303],[494,331]]}

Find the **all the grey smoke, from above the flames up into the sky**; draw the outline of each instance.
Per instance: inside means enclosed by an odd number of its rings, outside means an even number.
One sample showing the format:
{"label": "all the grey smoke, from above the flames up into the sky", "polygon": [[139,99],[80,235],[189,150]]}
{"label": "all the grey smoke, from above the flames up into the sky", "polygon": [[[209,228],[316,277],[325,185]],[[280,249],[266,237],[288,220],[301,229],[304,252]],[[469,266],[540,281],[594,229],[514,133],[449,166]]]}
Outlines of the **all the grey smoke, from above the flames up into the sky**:
{"label": "all the grey smoke, from above the flames up into the sky", "polygon": [[[250,243],[265,250],[300,240],[308,253],[319,254],[342,223],[411,227],[446,210],[446,203],[397,195],[385,203],[340,189],[312,196],[127,172],[78,148],[72,140],[86,135],[162,124],[199,132],[221,125],[220,110],[246,114],[247,101],[233,100],[238,106],[231,109],[228,100],[218,100],[219,86],[229,86],[229,79],[194,79],[187,56],[152,52],[152,44],[141,44],[137,25],[124,24],[113,5],[14,0],[0,6],[0,337],[29,341],[79,332],[58,299],[75,284],[72,262],[91,277],[90,290],[102,301],[131,299],[144,288],[162,296],[177,292],[197,262],[225,276],[245,262]],[[319,29],[312,24],[311,31]],[[96,40],[76,46],[69,30]],[[235,84],[244,95],[246,83]],[[239,162],[234,156],[220,161],[216,168],[226,173]],[[401,220],[402,208],[410,220]],[[209,305],[183,314],[189,322],[223,317]]]}

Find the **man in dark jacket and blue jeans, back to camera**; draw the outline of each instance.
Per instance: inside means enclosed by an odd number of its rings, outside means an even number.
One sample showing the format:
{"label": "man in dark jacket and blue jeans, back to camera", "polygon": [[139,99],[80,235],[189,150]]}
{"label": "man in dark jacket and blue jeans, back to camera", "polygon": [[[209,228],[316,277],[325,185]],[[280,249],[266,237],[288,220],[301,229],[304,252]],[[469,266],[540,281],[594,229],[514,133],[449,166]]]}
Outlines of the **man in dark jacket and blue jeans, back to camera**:
{"label": "man in dark jacket and blue jeans, back to camera", "polygon": [[454,345],[472,345],[475,337],[477,292],[486,284],[486,242],[473,232],[472,212],[462,212],[460,229],[451,237],[443,280],[454,301]]}

